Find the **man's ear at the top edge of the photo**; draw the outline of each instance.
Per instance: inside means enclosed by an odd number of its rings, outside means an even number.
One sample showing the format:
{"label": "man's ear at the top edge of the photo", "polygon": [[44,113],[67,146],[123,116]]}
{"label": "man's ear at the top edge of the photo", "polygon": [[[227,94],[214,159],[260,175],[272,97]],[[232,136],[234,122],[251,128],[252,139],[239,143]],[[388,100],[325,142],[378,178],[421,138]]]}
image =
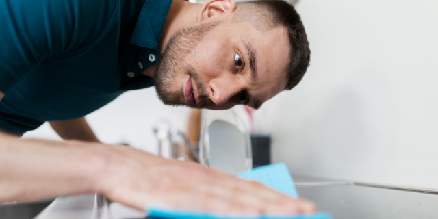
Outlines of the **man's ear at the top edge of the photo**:
{"label": "man's ear at the top edge of the photo", "polygon": [[235,0],[208,0],[198,14],[198,22],[205,21],[208,18],[232,14],[235,11]]}

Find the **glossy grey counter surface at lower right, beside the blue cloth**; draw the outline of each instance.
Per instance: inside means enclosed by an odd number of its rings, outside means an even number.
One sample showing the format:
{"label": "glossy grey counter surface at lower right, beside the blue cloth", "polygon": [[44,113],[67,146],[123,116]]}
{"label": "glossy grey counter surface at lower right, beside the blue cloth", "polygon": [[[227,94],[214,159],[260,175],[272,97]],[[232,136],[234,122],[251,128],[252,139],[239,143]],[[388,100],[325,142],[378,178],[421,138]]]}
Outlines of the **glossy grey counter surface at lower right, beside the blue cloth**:
{"label": "glossy grey counter surface at lower right, beside the blue cloth", "polygon": [[314,201],[333,218],[438,218],[438,196],[360,185],[297,187],[302,198]]}

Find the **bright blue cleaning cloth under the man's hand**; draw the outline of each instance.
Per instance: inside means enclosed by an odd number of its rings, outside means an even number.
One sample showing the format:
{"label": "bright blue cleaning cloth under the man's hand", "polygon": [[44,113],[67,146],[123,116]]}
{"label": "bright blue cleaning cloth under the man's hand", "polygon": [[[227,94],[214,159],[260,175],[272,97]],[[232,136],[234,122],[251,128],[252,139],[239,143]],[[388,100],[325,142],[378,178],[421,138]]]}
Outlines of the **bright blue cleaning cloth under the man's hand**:
{"label": "bright blue cleaning cloth under the man's hand", "polygon": [[[237,177],[259,181],[274,190],[283,192],[293,198],[298,198],[298,192],[296,192],[294,181],[284,163],[254,168],[253,170],[241,172]],[[331,215],[326,213],[246,216],[186,211],[167,207],[151,207],[147,209],[147,211],[149,213],[149,218],[151,219],[331,219]]]}

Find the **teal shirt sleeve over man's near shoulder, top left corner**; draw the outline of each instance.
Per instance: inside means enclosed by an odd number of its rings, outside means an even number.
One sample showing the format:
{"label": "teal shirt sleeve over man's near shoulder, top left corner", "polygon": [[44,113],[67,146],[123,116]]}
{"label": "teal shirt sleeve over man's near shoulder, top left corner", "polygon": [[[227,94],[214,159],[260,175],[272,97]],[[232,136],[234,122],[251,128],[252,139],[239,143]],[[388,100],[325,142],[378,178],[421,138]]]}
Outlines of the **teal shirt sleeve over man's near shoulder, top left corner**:
{"label": "teal shirt sleeve over man's near shoulder, top left corner", "polygon": [[48,57],[98,38],[115,2],[0,0],[0,90],[7,93]]}

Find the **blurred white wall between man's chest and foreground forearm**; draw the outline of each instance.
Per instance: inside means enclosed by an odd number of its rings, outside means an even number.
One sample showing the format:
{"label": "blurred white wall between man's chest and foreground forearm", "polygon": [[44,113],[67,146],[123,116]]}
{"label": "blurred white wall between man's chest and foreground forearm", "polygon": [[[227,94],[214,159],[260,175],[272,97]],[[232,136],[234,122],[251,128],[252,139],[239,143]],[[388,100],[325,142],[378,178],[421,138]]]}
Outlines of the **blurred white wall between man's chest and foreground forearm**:
{"label": "blurred white wall between man's chest and foreground forearm", "polygon": [[[90,127],[102,142],[108,144],[128,143],[151,153],[157,153],[157,138],[153,133],[155,124],[168,120],[185,130],[190,109],[168,107],[157,98],[155,88],[125,92],[112,103],[86,116]],[[61,140],[48,123],[23,138]]]}

